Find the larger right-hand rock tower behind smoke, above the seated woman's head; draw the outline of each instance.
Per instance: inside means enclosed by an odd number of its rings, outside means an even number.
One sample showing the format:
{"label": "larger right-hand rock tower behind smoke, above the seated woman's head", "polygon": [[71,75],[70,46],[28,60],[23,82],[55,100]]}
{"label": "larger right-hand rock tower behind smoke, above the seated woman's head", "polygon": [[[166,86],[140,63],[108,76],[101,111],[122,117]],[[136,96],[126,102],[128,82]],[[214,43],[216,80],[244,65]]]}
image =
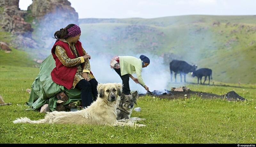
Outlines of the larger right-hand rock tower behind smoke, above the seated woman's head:
{"label": "larger right-hand rock tower behind smoke, above the seated woman's head", "polygon": [[42,48],[51,49],[55,31],[78,24],[78,13],[68,0],[33,0],[28,11],[37,20],[35,34],[42,41]]}

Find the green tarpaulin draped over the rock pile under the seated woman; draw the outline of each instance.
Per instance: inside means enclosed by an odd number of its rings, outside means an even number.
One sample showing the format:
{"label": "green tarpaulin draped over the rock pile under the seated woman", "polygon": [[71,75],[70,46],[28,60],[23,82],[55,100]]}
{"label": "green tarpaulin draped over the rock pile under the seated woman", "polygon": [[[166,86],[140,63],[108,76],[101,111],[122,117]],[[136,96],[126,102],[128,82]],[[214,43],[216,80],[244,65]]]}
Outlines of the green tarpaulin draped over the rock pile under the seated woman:
{"label": "green tarpaulin draped over the rock pile under the seated woman", "polygon": [[57,106],[56,94],[64,92],[68,96],[68,100],[63,105],[81,100],[80,90],[66,89],[64,86],[58,85],[52,81],[51,72],[55,68],[55,61],[52,55],[49,55],[41,64],[39,74],[31,85],[31,93],[27,105],[31,110],[37,110],[44,104],[49,104],[51,111]]}

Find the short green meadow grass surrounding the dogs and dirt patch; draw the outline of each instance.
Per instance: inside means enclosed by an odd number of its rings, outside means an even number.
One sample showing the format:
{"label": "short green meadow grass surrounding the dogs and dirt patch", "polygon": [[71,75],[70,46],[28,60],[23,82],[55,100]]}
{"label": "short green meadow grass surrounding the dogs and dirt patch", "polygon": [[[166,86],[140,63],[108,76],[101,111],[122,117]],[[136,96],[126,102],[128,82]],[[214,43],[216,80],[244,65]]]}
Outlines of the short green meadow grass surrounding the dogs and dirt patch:
{"label": "short green meadow grass surrounding the dogs and dirt patch", "polygon": [[[18,71],[18,72],[17,72]],[[30,88],[39,69],[0,64],[0,94],[10,106],[1,106],[0,143],[253,143],[256,137],[256,85],[241,88],[187,85],[191,90],[223,94],[235,91],[248,99],[158,99],[140,97],[132,117],[145,118],[145,128],[73,124],[13,124],[45,114],[26,111]],[[215,84],[220,84],[215,82]],[[222,83],[223,84],[223,83]],[[230,86],[235,86],[229,84]],[[170,85],[173,86],[173,85]],[[175,86],[175,85],[174,85]],[[247,87],[247,88],[244,88]]]}

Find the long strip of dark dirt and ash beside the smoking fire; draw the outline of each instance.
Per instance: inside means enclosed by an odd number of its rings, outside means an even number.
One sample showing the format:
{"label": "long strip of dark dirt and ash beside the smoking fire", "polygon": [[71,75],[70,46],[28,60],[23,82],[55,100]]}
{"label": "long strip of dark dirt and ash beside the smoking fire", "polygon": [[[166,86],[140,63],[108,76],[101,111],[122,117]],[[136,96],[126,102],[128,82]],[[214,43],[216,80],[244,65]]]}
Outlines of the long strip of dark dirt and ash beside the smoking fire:
{"label": "long strip of dark dirt and ash beside the smoking fire", "polygon": [[[196,96],[202,99],[227,99],[229,101],[236,101],[236,100],[246,100],[243,97],[241,97],[240,95],[238,95],[236,92],[231,91],[228,92],[224,95],[217,95],[214,93],[207,93],[207,92],[196,92],[196,91],[188,91],[188,92],[179,92],[179,91],[167,91],[165,90],[165,92],[162,93],[154,93],[157,91],[153,91],[152,95],[150,96],[155,96],[158,97],[160,99],[181,99],[181,98],[190,98],[191,96]],[[144,96],[144,95],[148,95],[147,94],[139,94],[139,96]],[[225,96],[225,98],[224,98]]]}

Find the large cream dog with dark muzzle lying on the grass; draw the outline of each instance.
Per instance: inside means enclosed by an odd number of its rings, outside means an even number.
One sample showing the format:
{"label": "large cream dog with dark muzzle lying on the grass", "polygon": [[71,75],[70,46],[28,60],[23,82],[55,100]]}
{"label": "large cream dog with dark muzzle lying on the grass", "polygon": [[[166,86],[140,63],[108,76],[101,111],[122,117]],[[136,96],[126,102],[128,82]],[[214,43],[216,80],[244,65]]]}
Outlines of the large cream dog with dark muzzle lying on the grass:
{"label": "large cream dog with dark muzzle lying on the grass", "polygon": [[91,106],[76,112],[48,112],[44,119],[31,121],[24,117],[13,123],[51,123],[51,124],[104,124],[109,126],[142,127],[145,125],[133,122],[118,122],[116,120],[116,105],[122,92],[120,83],[98,84],[98,98]]}

